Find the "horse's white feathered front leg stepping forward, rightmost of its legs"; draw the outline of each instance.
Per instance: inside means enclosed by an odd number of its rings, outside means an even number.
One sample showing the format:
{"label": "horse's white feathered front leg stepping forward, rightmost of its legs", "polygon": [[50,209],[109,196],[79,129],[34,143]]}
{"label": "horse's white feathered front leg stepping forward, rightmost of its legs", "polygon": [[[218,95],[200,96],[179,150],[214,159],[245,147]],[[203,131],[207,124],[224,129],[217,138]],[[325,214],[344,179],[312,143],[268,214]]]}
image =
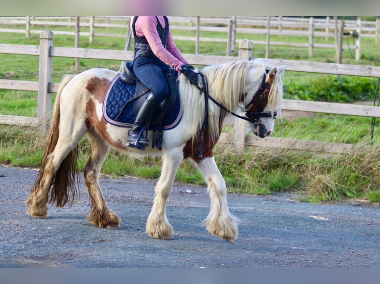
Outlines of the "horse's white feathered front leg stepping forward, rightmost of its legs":
{"label": "horse's white feathered front leg stepping forward, rightmost of its legs", "polygon": [[238,219],[230,214],[227,205],[227,187],[213,156],[197,162],[208,185],[211,199],[210,212],[203,221],[211,234],[233,242],[238,237]]}

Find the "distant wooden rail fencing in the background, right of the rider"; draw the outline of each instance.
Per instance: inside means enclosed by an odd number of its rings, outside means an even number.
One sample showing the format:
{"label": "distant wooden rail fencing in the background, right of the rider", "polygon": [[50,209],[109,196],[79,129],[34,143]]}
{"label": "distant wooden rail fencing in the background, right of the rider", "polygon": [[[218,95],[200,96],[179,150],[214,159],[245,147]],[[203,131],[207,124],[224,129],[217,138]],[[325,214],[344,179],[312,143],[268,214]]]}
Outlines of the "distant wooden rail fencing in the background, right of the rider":
{"label": "distant wooden rail fencing in the background, right of the rider", "polygon": [[[186,22],[186,17],[170,17],[171,23]],[[188,20],[189,21],[189,20]],[[195,25],[193,24],[196,23]],[[209,27],[204,25],[219,24],[224,27]],[[265,41],[253,41],[254,45],[266,46],[265,58],[269,57],[270,46],[288,46],[288,47],[306,47],[309,49],[309,57],[313,57],[315,48],[332,48],[336,50],[337,58],[342,50],[342,37],[351,36],[355,38],[355,45],[348,48],[355,50],[355,59],[358,61],[361,56],[361,38],[374,37],[376,44],[379,41],[379,19],[376,21],[362,21],[360,17],[356,21],[338,21],[337,17],[326,17],[326,19],[311,18],[290,18],[282,16],[257,16],[257,17],[200,17],[196,20],[190,18],[190,27],[173,26],[172,29],[193,30],[196,32],[195,37],[175,37],[176,40],[193,40],[196,42],[196,54],[199,53],[199,41],[215,42],[215,38],[199,38],[200,31],[224,32],[228,36],[225,39],[217,39],[218,42],[227,43],[226,55],[231,55],[236,43],[241,42],[239,34],[265,34]],[[308,43],[294,42],[274,42],[270,40],[270,35],[292,36],[308,38]],[[334,38],[334,44],[317,44],[315,38],[322,37],[325,40]],[[340,57],[341,59],[341,57]],[[337,63],[341,63],[341,60]]]}

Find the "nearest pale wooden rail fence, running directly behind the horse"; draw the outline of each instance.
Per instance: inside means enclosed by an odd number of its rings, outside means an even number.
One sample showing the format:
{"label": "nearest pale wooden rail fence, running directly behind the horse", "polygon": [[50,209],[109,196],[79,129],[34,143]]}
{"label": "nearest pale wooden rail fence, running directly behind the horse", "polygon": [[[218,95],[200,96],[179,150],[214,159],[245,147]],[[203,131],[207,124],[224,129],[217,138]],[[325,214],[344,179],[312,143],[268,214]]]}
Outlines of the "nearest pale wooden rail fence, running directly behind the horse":
{"label": "nearest pale wooden rail fence, running directly behind the horse", "polygon": [[[253,42],[245,39],[240,43],[239,57],[217,56],[217,55],[197,55],[184,54],[186,59],[193,65],[213,65],[236,60],[249,60],[252,57]],[[132,60],[133,51],[127,50],[107,50],[89,49],[74,47],[54,47],[53,32],[46,30],[40,35],[40,46],[4,45],[0,44],[0,53],[25,54],[39,56],[39,81],[17,81],[0,80],[0,89],[24,90],[38,92],[38,117],[20,117],[0,114],[0,124],[36,126],[39,123],[45,124],[50,117],[51,93],[56,93],[58,83],[52,83],[52,58],[89,58],[89,59],[111,59],[111,60]],[[287,71],[299,71],[309,73],[353,75],[365,77],[380,77],[380,67],[320,63],[294,60],[266,59],[271,65],[287,65]],[[295,111],[309,111],[322,113],[335,113],[342,115],[380,117],[380,107],[363,106],[354,104],[326,103],[302,100],[284,99],[282,109]],[[293,139],[265,138],[259,139],[246,136],[246,121],[236,119],[235,137],[223,134],[221,141],[234,141],[235,150],[243,152],[246,145],[271,146],[297,150],[312,150],[326,152],[345,152],[353,145],[328,142],[312,142]]]}

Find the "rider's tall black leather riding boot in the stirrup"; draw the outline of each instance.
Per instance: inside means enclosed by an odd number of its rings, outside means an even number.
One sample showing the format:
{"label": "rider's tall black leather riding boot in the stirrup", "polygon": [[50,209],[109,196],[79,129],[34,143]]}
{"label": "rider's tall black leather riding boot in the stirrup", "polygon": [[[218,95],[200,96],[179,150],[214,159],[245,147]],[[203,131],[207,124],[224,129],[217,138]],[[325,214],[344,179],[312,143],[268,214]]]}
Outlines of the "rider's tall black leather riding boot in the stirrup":
{"label": "rider's tall black leather riding boot in the stirrup", "polygon": [[158,105],[159,104],[153,94],[148,95],[137,113],[132,129],[128,131],[128,147],[145,150],[145,147],[149,146],[149,140],[145,138],[142,133],[140,137],[138,137],[138,135],[141,129],[149,123]]}

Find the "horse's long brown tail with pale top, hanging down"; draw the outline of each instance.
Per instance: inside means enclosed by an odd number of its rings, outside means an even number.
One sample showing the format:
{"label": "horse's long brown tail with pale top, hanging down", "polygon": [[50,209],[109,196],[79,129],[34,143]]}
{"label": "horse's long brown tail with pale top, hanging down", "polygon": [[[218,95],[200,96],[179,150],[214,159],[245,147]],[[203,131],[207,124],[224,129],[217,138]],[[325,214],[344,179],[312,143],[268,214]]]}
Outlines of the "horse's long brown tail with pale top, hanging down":
{"label": "horse's long brown tail with pale top, hanging down", "polygon": [[[59,138],[59,129],[60,129],[60,98],[63,88],[67,85],[67,83],[72,79],[73,76],[67,75],[63,78],[61,85],[58,89],[56,100],[54,103],[53,109],[53,117],[52,122],[49,129],[49,134],[45,146],[44,155],[41,161],[41,168],[38,173],[37,180],[32,188],[33,191],[38,191],[41,187],[43,187],[43,180],[46,171],[53,171],[52,168],[49,167],[49,164],[52,164],[52,160],[49,159],[49,155],[54,151],[58,138]],[[50,183],[50,197],[49,203],[56,203],[57,207],[63,207],[67,202],[69,202],[69,206],[71,206],[74,202],[74,197],[78,188],[78,178],[77,178],[77,153],[78,146],[75,146],[63,159],[61,165],[57,172],[51,172],[52,175],[51,183]],[[70,194],[69,194],[70,193]]]}

